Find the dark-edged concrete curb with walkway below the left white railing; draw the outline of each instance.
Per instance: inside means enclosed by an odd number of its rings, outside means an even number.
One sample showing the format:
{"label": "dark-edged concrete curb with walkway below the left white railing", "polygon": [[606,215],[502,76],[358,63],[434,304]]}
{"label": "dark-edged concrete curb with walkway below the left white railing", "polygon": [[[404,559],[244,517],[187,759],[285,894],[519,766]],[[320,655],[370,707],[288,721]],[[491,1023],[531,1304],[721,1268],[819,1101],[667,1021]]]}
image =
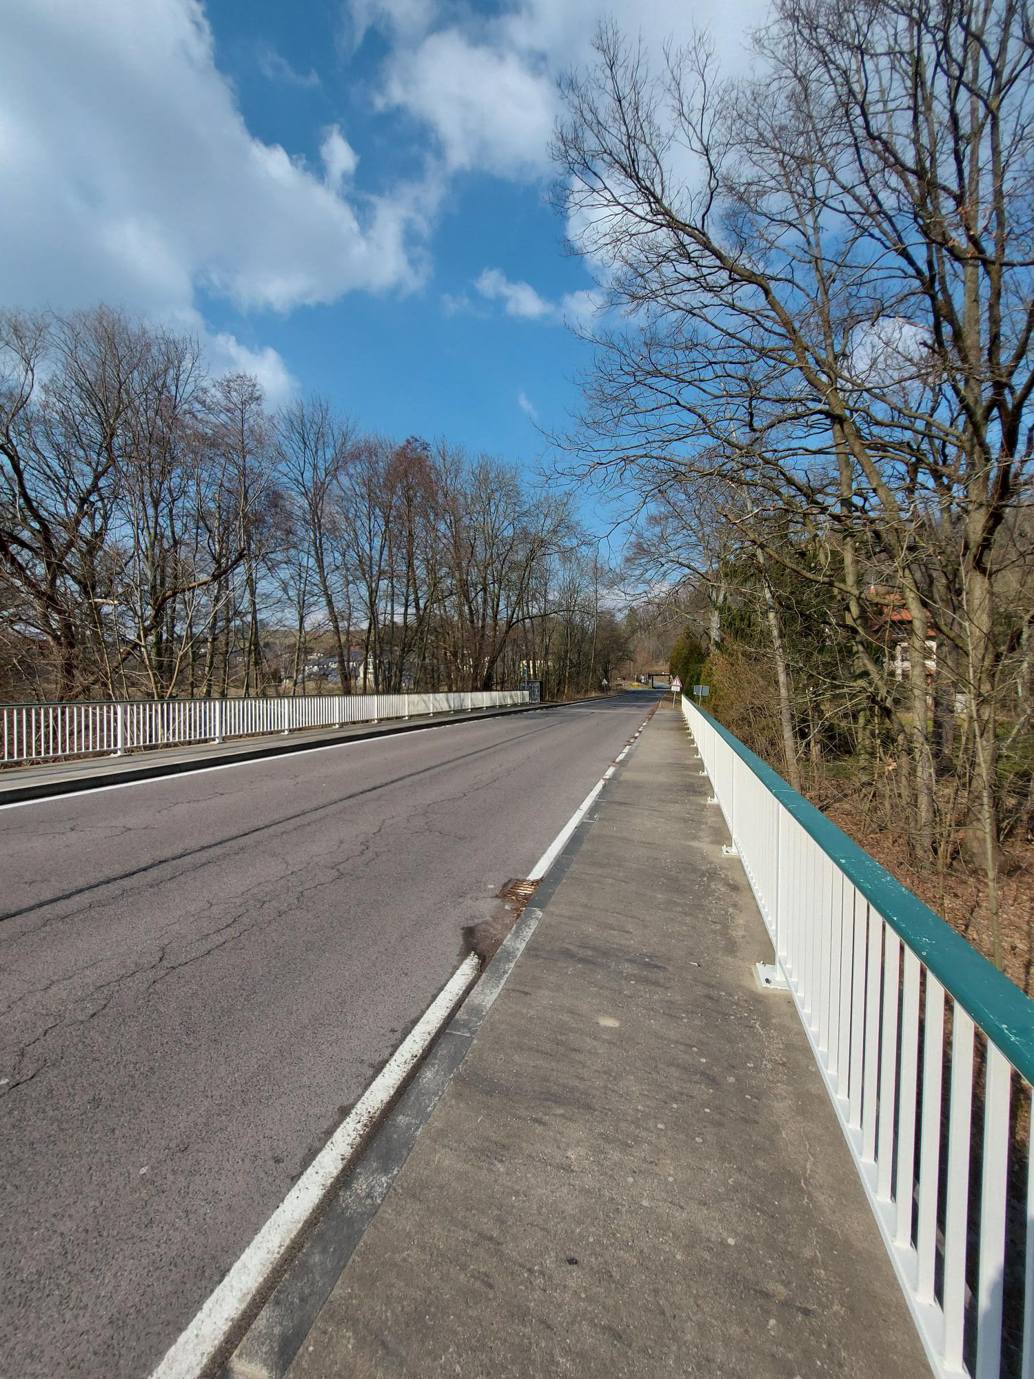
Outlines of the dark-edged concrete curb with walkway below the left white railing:
{"label": "dark-edged concrete curb with walkway below the left white railing", "polygon": [[[23,785],[6,785],[0,776],[0,808],[6,804],[22,804],[28,800],[50,800],[62,794],[79,794],[87,790],[101,790],[113,785],[132,785],[139,781],[159,781],[163,776],[186,775],[192,771],[207,771],[212,767],[233,765],[239,761],[262,761],[266,757],[292,756],[298,752],[313,752],[320,747],[342,746],[347,742],[367,742],[371,738],[389,738],[400,732],[418,732],[422,728],[449,727],[456,723],[483,723],[485,718],[505,718],[511,714],[536,713],[540,709],[562,709],[567,705],[594,703],[594,699],[547,701],[546,703],[528,703],[516,707],[478,709],[470,713],[426,714],[423,717],[390,720],[386,724],[360,727],[358,729],[331,729],[318,738],[283,738],[276,735],[273,741],[239,739],[226,743],[221,752],[210,752],[197,757],[181,758],[176,761],[149,760],[159,756],[143,753],[139,764],[134,765],[98,765],[92,772],[58,778],[54,781],[36,781]],[[73,763],[70,763],[73,764]],[[32,769],[32,768],[29,768]]]}

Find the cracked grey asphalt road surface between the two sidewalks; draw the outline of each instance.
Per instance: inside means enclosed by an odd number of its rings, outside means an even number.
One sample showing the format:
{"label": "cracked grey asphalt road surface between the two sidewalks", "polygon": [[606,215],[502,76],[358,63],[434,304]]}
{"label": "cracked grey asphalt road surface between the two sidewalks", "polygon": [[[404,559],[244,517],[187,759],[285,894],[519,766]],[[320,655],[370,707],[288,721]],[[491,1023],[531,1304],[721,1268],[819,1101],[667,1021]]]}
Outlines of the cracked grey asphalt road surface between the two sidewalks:
{"label": "cracked grey asphalt road surface between the two sidewalks", "polygon": [[653,702],[0,809],[0,1376],[143,1376]]}

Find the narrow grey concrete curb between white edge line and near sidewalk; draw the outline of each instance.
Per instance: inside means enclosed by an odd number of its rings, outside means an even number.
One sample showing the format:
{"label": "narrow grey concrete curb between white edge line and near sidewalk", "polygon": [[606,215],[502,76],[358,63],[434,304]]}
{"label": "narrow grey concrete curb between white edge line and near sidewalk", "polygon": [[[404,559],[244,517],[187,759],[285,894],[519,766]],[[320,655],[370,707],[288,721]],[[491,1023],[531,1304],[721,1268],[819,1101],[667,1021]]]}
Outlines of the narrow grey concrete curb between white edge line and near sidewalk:
{"label": "narrow grey concrete curb between white edge line and near sidewalk", "polygon": [[[591,702],[591,701],[579,701]],[[652,713],[651,713],[652,717]],[[620,769],[620,768],[619,768]],[[596,823],[600,800],[575,827],[499,952],[381,1123],[338,1194],[251,1321],[216,1379],[284,1379],[323,1305],[409,1157],[495,998]]]}

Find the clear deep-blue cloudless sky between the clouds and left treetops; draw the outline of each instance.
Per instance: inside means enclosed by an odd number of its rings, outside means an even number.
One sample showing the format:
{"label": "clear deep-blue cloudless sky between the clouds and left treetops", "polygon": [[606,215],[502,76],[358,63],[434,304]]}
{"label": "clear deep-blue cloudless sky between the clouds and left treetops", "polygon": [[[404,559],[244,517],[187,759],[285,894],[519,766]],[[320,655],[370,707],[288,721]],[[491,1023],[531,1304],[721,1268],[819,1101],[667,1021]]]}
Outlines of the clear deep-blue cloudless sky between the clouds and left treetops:
{"label": "clear deep-blue cloudless sky between the clouds and left treetops", "polygon": [[[208,17],[219,65],[258,138],[318,165],[321,132],[336,125],[358,157],[358,193],[390,194],[400,181],[422,177],[426,131],[407,112],[371,109],[392,51],[376,28],[356,47],[339,6],[234,0],[210,6]],[[274,345],[305,386],[332,394],[364,426],[445,434],[532,462],[543,441],[528,408],[543,422],[562,418],[583,346],[560,312],[511,316],[505,301],[474,284],[496,270],[507,283],[534,284],[549,302],[594,285],[565,252],[547,183],[545,163],[531,178],[477,167],[454,172],[432,233],[418,243],[423,277],[412,291],[354,292],[248,323],[210,299],[205,314],[239,334],[250,328],[250,343]]]}

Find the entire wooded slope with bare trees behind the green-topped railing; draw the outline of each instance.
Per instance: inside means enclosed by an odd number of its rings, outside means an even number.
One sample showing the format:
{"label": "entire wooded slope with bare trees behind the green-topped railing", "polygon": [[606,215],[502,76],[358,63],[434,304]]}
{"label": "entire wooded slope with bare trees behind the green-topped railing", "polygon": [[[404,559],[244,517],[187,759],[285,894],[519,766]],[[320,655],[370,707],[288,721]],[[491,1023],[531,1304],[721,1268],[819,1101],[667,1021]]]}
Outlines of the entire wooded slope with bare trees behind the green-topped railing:
{"label": "entire wooded slope with bare trees behind the green-topped railing", "polygon": [[714,712],[1030,987],[1030,12],[778,0],[756,50],[607,26],[565,85],[567,467],[647,513]]}

